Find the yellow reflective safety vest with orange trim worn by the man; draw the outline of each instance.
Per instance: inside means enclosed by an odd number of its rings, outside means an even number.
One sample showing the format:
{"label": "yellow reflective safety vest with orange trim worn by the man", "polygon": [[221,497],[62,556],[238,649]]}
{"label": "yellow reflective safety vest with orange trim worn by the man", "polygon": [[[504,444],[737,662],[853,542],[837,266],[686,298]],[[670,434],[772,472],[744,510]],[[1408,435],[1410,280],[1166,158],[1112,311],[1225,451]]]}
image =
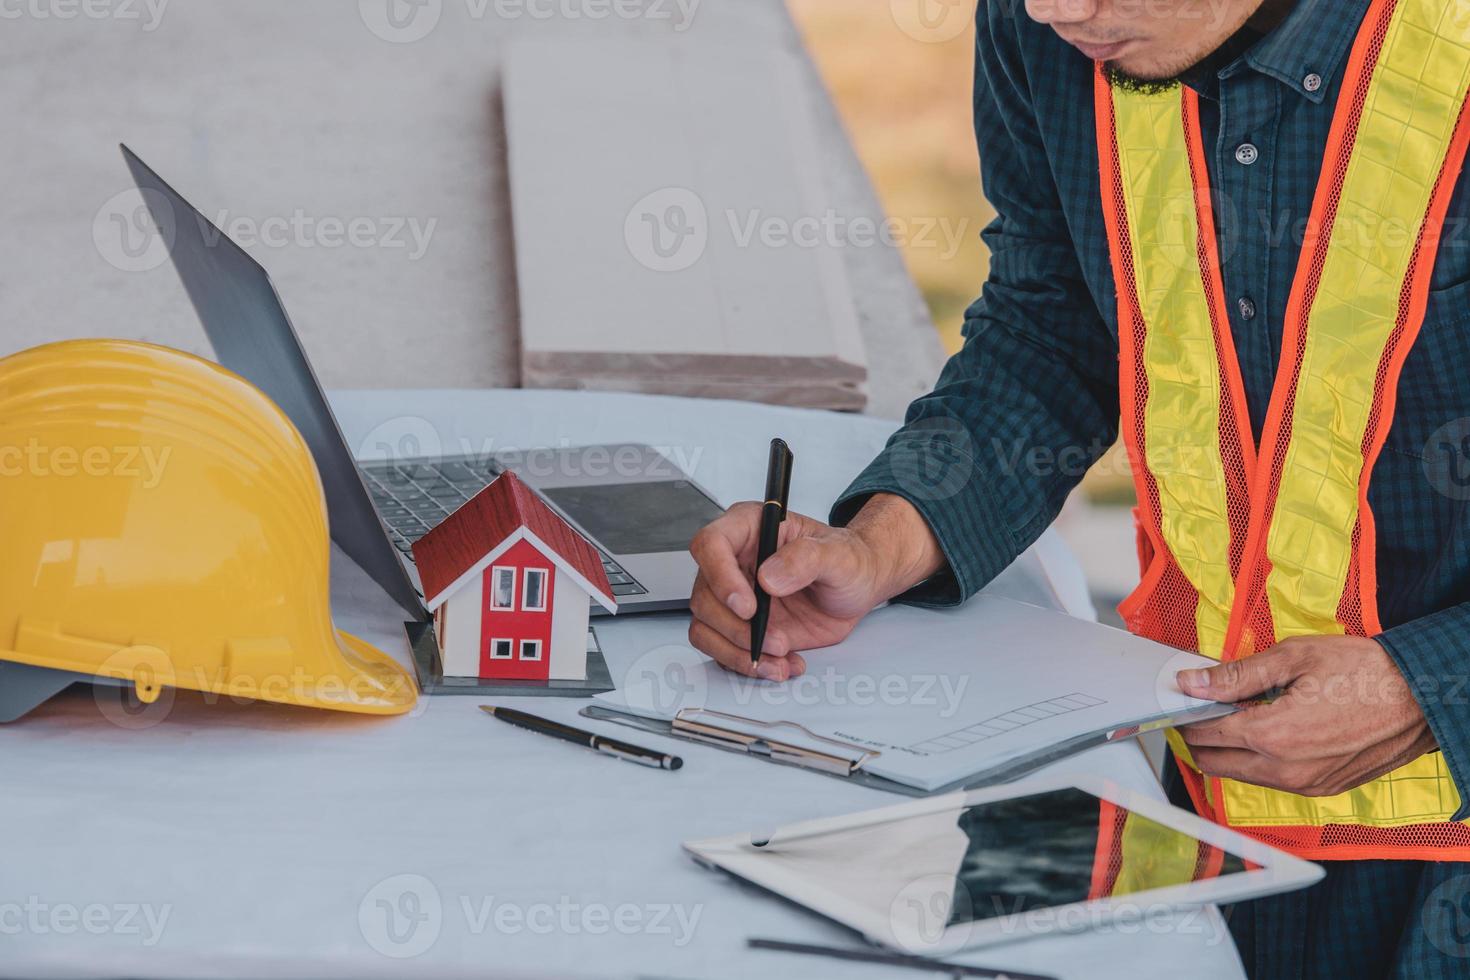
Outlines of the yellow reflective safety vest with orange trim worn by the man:
{"label": "yellow reflective safety vest with orange trim worn by the man", "polygon": [[[1214,658],[1289,636],[1373,636],[1369,480],[1424,319],[1439,232],[1470,143],[1470,4],[1374,0],[1352,47],[1252,441],[1217,256],[1198,97],[1095,100],[1119,304],[1122,429],[1138,488],[1135,633]],[[1411,222],[1407,225],[1405,222]],[[1317,860],[1470,860],[1439,752],[1305,798],[1202,777],[1197,808]]]}

